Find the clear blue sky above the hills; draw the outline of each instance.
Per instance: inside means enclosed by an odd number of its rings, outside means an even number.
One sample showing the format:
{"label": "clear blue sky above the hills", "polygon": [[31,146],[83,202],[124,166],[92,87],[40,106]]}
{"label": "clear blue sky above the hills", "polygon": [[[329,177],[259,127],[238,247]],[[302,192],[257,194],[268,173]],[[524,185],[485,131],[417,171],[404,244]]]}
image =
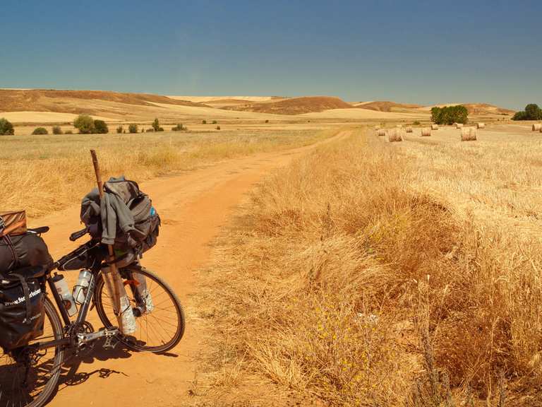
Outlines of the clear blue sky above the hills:
{"label": "clear blue sky above the hills", "polygon": [[2,0],[0,87],[542,104],[542,1]]}

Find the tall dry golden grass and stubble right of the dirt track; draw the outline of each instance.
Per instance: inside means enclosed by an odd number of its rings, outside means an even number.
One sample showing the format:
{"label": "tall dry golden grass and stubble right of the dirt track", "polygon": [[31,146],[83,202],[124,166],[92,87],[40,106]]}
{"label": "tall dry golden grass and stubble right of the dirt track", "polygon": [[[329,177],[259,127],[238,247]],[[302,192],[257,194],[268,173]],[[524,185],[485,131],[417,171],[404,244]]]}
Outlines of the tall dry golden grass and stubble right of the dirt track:
{"label": "tall dry golden grass and stubble right of the dirt track", "polygon": [[534,405],[542,144],[379,140],[255,192],[205,279],[215,362],[335,406]]}

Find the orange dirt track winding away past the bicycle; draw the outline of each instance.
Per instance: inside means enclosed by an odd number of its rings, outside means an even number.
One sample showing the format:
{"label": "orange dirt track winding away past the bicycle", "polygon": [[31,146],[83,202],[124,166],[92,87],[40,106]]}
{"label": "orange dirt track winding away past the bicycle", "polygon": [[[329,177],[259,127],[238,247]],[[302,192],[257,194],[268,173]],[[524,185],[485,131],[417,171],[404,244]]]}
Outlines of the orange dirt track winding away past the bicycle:
{"label": "orange dirt track winding away past the bicycle", "polygon": [[[349,131],[323,141],[349,136]],[[265,153],[188,172],[161,177],[141,185],[152,197],[162,217],[158,244],[145,254],[143,264],[157,271],[181,298],[186,309],[186,334],[169,355],[95,350],[73,360],[61,377],[58,394],[50,406],[179,406],[186,400],[198,367],[203,333],[191,324],[195,316],[191,294],[197,290],[197,270],[205,264],[209,243],[227,223],[232,209],[254,184],[314,146],[279,153]],[[49,225],[44,235],[54,258],[76,247],[68,235],[80,229],[79,207],[42,218]],[[32,224],[37,226],[38,224]],[[65,273],[66,274],[66,273]],[[77,272],[69,273],[74,281]],[[92,312],[90,321],[100,324]]]}

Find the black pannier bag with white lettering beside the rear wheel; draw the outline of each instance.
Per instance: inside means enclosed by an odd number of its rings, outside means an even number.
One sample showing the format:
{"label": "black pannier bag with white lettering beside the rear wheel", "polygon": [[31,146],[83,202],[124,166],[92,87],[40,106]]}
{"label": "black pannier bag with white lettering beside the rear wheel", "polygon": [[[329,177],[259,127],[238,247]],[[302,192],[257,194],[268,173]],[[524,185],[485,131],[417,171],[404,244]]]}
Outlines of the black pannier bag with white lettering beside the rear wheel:
{"label": "black pannier bag with white lettering beside the rear wheel", "polygon": [[[28,271],[33,275],[35,268]],[[13,350],[43,334],[44,293],[37,278],[25,269],[0,277],[0,346]]]}

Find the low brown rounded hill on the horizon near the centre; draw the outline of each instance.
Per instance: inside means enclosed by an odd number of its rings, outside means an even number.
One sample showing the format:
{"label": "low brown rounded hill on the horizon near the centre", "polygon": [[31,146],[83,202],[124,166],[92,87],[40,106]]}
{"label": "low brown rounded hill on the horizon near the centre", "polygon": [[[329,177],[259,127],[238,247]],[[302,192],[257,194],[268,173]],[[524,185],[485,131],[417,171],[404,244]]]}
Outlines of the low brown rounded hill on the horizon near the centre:
{"label": "low brown rounded hill on the horizon near the centre", "polygon": [[352,105],[339,98],[331,96],[305,96],[269,102],[246,103],[242,105],[224,106],[224,110],[272,114],[303,114],[323,112],[332,109],[351,109]]}

